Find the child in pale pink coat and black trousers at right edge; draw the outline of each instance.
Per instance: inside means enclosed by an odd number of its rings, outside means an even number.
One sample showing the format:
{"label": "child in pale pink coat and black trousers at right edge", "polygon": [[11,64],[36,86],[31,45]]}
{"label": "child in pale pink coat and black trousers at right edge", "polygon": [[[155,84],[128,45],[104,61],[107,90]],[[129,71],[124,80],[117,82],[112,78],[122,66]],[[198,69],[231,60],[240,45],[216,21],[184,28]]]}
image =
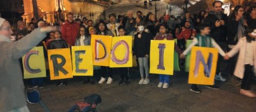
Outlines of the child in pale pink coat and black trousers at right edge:
{"label": "child in pale pink coat and black trousers at right edge", "polygon": [[256,93],[250,91],[253,66],[256,69],[256,28],[248,27],[246,37],[241,38],[237,45],[226,53],[224,59],[228,60],[239,52],[234,75],[242,78],[240,93],[248,97],[256,97]]}

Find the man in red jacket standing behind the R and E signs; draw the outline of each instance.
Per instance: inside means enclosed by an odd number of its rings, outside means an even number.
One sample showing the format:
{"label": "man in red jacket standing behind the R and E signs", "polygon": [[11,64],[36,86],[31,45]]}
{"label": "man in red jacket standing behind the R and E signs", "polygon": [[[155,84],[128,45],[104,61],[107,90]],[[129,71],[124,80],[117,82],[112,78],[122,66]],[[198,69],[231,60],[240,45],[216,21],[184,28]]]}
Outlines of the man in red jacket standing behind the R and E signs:
{"label": "man in red jacket standing behind the R and E signs", "polygon": [[74,46],[75,38],[78,36],[80,29],[79,23],[73,20],[73,16],[72,13],[68,13],[67,20],[61,27],[62,39],[67,42],[68,46]]}

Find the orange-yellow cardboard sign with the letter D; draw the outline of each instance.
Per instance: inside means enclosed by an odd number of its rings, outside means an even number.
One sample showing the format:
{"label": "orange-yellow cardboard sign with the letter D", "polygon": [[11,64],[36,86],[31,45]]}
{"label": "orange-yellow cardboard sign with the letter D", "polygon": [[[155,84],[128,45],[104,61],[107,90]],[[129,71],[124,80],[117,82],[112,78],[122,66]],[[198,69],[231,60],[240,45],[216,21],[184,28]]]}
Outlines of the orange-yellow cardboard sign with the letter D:
{"label": "orange-yellow cardboard sign with the letter D", "polygon": [[93,65],[109,66],[112,36],[92,35]]}

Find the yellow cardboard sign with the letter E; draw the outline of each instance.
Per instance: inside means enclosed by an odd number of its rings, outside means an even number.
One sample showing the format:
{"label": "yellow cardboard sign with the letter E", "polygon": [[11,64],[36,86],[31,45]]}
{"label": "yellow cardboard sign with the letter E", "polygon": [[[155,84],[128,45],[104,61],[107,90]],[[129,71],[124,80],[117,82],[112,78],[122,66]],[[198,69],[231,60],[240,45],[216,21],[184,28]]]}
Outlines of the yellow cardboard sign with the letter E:
{"label": "yellow cardboard sign with the letter E", "polygon": [[72,46],[73,76],[93,76],[91,46]]}

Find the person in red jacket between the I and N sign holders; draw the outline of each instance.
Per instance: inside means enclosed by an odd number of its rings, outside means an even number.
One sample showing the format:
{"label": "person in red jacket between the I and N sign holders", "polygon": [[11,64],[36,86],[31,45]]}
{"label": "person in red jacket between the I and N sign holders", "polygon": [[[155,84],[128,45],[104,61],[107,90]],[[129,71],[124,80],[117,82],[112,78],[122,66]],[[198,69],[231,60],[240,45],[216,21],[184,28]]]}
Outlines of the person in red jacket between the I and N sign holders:
{"label": "person in red jacket between the I and N sign holders", "polygon": [[185,29],[182,29],[182,32],[181,34],[178,34],[176,32],[176,37],[178,40],[180,39],[185,39],[185,40],[188,40],[188,39],[193,39],[196,35],[196,31],[194,29],[191,29],[191,24],[189,21],[186,21],[185,22]]}

